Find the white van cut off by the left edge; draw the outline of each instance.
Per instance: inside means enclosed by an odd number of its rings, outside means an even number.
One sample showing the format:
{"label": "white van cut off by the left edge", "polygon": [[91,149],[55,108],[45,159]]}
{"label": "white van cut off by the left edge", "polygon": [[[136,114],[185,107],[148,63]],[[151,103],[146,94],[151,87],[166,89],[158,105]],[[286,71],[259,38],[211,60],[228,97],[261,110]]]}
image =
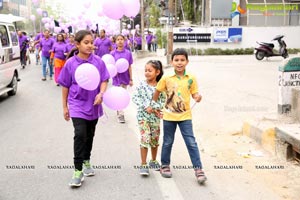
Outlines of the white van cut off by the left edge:
{"label": "white van cut off by the left edge", "polygon": [[0,14],[0,95],[17,93],[20,70],[20,47],[13,24],[20,17]]}

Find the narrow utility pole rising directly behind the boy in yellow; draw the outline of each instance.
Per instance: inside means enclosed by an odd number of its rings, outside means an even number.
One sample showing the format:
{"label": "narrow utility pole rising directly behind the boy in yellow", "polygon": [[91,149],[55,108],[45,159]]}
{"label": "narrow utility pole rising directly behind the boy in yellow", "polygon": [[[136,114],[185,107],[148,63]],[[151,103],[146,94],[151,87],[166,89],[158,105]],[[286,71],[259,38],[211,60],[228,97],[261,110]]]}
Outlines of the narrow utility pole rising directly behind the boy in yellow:
{"label": "narrow utility pole rising directly behind the boy in yellow", "polygon": [[174,23],[174,0],[168,2],[168,49],[167,49],[167,64],[171,63],[171,55],[173,52],[173,23]]}

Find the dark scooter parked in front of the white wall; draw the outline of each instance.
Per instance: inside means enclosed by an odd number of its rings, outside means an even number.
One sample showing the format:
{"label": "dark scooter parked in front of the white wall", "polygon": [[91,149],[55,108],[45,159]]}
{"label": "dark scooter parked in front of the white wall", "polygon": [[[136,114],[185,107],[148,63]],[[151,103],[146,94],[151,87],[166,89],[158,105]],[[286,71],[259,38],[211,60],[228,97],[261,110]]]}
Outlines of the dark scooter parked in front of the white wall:
{"label": "dark scooter parked in front of the white wall", "polygon": [[259,44],[259,47],[255,48],[255,58],[257,60],[262,60],[264,57],[272,57],[272,56],[282,56],[284,59],[289,57],[286,43],[282,39],[283,35],[276,36],[272,41],[277,41],[279,44],[279,52],[274,52],[274,44],[273,43],[266,43],[266,42],[256,42]]}

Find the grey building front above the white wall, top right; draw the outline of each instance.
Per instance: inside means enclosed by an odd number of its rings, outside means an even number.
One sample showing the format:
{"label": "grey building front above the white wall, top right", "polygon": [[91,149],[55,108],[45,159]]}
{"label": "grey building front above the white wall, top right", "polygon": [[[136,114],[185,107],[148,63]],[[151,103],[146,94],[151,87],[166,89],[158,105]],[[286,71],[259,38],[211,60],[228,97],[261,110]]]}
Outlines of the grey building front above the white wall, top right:
{"label": "grey building front above the white wall, top right", "polygon": [[300,25],[300,0],[206,0],[204,8],[207,26]]}

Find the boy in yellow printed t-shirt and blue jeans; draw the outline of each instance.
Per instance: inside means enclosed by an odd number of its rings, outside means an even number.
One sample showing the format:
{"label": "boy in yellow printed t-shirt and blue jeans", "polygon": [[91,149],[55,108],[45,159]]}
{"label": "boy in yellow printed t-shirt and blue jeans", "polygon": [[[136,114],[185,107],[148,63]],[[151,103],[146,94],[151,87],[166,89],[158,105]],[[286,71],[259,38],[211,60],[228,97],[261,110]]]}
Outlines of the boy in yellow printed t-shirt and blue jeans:
{"label": "boy in yellow printed t-shirt and blue jeans", "polygon": [[[190,108],[190,97],[200,102],[202,96],[198,92],[196,78],[186,72],[189,63],[188,54],[185,49],[176,49],[171,55],[171,64],[174,72],[164,76],[157,84],[153,95],[156,102],[159,94],[166,92],[167,100],[163,112],[163,146],[161,152],[160,173],[165,178],[171,178],[170,170],[171,151],[174,142],[174,135],[177,125],[186,144],[190,159],[195,170],[195,176],[199,184],[206,181],[206,176],[202,170],[202,163],[197,142],[193,133],[192,112]],[[152,106],[154,107],[154,106]]]}

